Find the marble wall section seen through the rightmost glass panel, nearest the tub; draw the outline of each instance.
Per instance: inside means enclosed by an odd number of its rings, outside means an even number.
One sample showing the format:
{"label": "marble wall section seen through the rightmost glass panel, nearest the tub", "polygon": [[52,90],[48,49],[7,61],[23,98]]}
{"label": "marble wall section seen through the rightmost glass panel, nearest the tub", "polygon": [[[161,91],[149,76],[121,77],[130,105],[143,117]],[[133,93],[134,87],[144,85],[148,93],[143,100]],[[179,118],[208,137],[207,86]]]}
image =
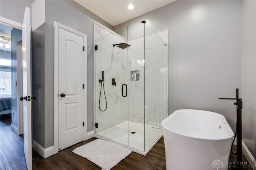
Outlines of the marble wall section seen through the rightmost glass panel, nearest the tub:
{"label": "marble wall section seen through the rightmost glass panel, nearest the tub", "polygon": [[161,127],[167,113],[166,49],[158,34],[145,36],[145,123],[155,127]]}

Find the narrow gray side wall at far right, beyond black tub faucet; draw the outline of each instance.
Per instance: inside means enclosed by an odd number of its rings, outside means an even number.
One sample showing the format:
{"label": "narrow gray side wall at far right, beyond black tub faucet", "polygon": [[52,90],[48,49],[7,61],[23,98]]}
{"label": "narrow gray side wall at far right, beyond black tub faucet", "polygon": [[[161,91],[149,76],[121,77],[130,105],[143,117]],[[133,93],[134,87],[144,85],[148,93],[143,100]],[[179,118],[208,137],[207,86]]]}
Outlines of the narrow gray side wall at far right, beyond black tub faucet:
{"label": "narrow gray side wall at far right, beyond black tub faucet", "polygon": [[242,1],[242,137],[256,159],[256,1]]}

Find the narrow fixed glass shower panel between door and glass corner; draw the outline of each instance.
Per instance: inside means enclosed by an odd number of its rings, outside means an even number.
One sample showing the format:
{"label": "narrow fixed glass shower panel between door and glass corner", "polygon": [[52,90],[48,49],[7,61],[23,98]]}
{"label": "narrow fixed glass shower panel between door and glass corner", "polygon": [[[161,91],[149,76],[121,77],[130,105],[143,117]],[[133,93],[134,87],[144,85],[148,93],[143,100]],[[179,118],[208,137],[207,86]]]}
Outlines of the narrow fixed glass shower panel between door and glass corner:
{"label": "narrow fixed glass shower panel between door and glass corner", "polygon": [[129,147],[144,152],[144,24],[128,27]]}

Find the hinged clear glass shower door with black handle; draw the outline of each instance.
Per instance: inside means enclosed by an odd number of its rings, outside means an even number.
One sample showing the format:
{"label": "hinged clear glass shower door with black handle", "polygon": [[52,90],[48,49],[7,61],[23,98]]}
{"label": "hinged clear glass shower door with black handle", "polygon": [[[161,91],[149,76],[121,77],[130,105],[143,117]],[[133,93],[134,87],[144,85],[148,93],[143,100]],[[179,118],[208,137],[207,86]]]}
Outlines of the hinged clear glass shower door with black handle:
{"label": "hinged clear glass shower door with black handle", "polygon": [[123,36],[96,24],[95,29],[95,132],[128,146],[128,97],[123,97],[128,79],[127,27],[119,30]]}

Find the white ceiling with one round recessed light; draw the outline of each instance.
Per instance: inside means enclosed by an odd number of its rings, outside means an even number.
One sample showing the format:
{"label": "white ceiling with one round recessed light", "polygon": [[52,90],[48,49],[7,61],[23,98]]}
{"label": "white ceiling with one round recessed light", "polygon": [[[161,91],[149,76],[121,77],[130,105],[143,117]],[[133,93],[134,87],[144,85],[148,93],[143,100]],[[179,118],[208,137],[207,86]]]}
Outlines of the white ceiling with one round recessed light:
{"label": "white ceiling with one round recessed light", "polygon": [[[146,14],[176,0],[74,0],[112,26]],[[132,4],[134,9],[129,10]]]}

